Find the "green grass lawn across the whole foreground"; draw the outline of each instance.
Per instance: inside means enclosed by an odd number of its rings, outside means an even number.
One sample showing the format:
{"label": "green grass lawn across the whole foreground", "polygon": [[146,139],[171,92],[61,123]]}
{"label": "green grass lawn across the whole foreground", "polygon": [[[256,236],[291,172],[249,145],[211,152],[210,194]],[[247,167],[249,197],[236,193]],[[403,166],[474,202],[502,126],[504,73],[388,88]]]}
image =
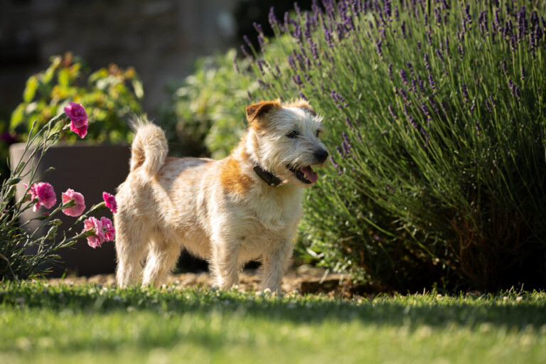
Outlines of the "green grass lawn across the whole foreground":
{"label": "green grass lawn across the whole foreground", "polygon": [[0,363],[544,363],[546,293],[342,300],[0,284]]}

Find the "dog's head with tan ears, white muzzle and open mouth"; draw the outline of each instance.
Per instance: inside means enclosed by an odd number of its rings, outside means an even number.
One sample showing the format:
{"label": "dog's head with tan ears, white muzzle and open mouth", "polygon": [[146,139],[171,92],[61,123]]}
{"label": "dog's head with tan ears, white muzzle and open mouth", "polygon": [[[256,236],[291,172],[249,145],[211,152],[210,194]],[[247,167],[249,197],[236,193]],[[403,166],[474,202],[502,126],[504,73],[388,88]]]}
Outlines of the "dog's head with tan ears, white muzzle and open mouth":
{"label": "dog's head with tan ears, white muzzle and open mouth", "polygon": [[305,100],[282,104],[262,101],[247,107],[247,151],[260,167],[286,184],[310,186],[314,166],[324,166],[328,151],[321,141],[322,118]]}

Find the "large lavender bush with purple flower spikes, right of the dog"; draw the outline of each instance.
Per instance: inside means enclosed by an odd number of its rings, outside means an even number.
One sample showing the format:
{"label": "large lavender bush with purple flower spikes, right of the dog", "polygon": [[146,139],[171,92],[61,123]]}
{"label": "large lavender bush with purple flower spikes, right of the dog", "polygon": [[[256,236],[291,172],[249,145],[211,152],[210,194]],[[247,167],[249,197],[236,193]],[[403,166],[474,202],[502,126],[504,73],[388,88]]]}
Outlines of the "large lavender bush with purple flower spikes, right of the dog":
{"label": "large lavender bush with purple flower spikes, right of the dog", "polygon": [[324,116],[331,165],[302,225],[323,264],[383,288],[546,287],[536,4],[325,0],[272,12],[285,56],[269,57],[260,34],[263,53],[248,57],[262,87],[250,97],[300,95]]}

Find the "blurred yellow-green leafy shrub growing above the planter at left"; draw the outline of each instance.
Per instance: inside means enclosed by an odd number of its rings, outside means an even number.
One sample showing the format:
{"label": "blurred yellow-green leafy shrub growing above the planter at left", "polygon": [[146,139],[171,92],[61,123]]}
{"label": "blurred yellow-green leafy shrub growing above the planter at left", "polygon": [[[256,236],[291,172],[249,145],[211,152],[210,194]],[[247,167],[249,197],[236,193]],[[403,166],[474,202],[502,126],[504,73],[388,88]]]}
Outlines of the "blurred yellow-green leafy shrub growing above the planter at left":
{"label": "blurred yellow-green leafy shrub growing above the planter at left", "polygon": [[[141,112],[143,95],[134,68],[123,70],[109,65],[90,73],[83,61],[71,53],[55,55],[47,70],[27,80],[23,102],[11,114],[10,129],[20,141],[26,141],[32,130],[36,133],[73,101],[92,110],[87,140],[129,141],[132,134],[125,119],[129,114]],[[34,121],[36,129],[32,129]],[[63,138],[79,139],[76,134]]]}

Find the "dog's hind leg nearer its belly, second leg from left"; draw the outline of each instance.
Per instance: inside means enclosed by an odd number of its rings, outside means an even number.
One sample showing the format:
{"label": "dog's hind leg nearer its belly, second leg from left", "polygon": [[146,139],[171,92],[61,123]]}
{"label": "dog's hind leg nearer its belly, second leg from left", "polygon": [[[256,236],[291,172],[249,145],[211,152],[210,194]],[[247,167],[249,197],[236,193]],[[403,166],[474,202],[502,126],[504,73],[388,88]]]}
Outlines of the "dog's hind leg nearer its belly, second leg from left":
{"label": "dog's hind leg nearer its belly, second leg from left", "polygon": [[174,269],[181,247],[167,240],[162,235],[155,235],[151,240],[142,286],[163,284],[169,273]]}

